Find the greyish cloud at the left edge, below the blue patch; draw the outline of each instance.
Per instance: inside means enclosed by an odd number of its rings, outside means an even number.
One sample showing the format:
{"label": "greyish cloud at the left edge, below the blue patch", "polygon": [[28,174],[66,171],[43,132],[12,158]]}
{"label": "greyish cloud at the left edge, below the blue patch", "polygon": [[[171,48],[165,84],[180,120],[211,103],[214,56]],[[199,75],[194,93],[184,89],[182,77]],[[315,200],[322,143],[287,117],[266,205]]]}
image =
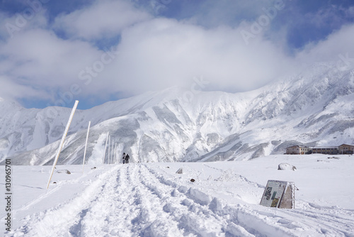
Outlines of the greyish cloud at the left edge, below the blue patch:
{"label": "greyish cloud at the left edge, below the blue patch", "polygon": [[0,51],[1,75],[42,90],[69,87],[78,80],[79,71],[101,55],[89,43],[62,40],[42,29],[19,33],[1,44]]}

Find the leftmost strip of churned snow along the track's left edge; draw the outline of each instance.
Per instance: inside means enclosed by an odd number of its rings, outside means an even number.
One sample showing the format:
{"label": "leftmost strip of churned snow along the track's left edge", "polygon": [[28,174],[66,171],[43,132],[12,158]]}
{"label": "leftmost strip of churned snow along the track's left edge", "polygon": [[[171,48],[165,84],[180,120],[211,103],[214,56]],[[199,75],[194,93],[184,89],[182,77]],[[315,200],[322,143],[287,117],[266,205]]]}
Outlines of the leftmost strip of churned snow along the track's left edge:
{"label": "leftmost strip of churned snow along the track's left edge", "polygon": [[45,213],[35,214],[35,217],[31,217],[28,224],[18,228],[15,233],[17,236],[20,236],[21,233],[26,236],[64,236],[64,230],[69,229],[69,225],[77,221],[81,211],[89,206],[96,198],[96,194],[103,189],[106,178],[117,169],[118,166],[115,166],[99,175],[96,181],[84,189],[84,192],[81,192],[78,197],[69,202],[59,204],[53,209],[47,209]]}

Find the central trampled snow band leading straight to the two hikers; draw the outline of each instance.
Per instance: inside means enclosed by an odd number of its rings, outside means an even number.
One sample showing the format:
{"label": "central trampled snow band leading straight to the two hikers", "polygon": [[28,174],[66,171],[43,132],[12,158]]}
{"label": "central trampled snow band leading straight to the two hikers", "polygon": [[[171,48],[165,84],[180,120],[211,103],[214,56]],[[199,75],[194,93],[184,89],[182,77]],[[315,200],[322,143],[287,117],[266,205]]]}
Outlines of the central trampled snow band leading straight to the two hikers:
{"label": "central trampled snow band leading straight to the two hikers", "polygon": [[70,228],[72,236],[182,236],[140,180],[139,165],[123,165]]}

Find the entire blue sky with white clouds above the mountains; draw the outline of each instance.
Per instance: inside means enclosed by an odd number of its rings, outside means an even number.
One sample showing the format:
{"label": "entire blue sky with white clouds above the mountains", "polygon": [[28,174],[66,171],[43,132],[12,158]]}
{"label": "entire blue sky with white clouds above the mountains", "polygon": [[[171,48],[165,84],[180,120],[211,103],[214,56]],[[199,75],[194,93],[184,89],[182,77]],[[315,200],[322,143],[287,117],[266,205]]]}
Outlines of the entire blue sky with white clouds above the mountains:
{"label": "entire blue sky with white clouds above the mountains", "polygon": [[0,97],[88,109],[196,79],[244,92],[351,60],[353,40],[352,0],[0,0]]}

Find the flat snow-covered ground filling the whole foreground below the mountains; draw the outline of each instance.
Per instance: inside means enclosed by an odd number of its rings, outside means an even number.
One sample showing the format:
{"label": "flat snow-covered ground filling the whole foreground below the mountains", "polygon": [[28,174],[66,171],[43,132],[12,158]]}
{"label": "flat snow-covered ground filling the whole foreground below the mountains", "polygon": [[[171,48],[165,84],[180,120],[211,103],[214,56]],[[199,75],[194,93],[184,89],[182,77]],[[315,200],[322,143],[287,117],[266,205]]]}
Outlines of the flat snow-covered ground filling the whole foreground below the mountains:
{"label": "flat snow-covered ground filling the whole foreground below the mountains", "polygon": [[[62,165],[56,170],[72,174],[55,172],[49,189],[51,166],[13,166],[5,236],[354,236],[354,156],[329,157],[86,165],[84,173]],[[278,170],[282,162],[297,170]],[[295,209],[259,205],[268,180],[295,182]]]}

